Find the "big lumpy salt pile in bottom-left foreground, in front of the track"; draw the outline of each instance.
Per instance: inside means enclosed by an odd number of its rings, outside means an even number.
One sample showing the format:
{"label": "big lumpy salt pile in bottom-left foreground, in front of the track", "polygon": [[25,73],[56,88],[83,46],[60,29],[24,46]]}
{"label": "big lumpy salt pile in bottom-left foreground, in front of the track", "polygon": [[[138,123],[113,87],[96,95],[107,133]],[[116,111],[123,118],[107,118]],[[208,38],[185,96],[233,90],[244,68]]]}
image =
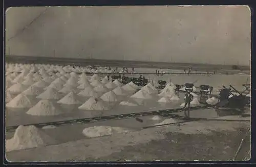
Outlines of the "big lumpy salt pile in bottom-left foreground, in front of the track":
{"label": "big lumpy salt pile in bottom-left foreground, in front of the track", "polygon": [[6,140],[6,151],[22,150],[57,144],[57,141],[35,126],[20,125],[13,138]]}

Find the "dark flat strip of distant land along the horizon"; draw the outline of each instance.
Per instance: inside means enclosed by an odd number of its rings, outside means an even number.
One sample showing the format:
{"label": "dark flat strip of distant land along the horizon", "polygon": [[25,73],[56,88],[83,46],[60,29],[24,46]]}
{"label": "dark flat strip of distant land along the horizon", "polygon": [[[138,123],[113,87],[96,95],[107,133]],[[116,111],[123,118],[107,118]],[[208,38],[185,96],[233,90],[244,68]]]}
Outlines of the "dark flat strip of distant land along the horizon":
{"label": "dark flat strip of distant land along the horizon", "polygon": [[193,63],[169,63],[169,62],[142,62],[123,60],[101,60],[101,59],[78,59],[78,58],[57,58],[57,57],[35,57],[35,56],[11,56],[6,55],[6,62],[9,63],[42,63],[56,65],[95,65],[127,68],[162,68],[184,70],[192,68],[198,71],[216,71],[217,73],[245,73],[250,74],[249,66],[239,66],[242,70],[232,69],[232,65],[215,64],[193,64]]}

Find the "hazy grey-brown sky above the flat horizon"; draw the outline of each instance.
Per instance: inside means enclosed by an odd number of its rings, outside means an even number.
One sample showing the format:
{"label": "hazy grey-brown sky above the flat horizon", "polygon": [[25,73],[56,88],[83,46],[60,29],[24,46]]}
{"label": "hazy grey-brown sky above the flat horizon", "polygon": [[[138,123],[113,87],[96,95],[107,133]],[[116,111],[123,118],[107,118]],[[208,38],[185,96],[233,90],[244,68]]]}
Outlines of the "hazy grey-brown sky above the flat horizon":
{"label": "hazy grey-brown sky above the flat horizon", "polygon": [[6,55],[249,65],[246,6],[12,7]]}

